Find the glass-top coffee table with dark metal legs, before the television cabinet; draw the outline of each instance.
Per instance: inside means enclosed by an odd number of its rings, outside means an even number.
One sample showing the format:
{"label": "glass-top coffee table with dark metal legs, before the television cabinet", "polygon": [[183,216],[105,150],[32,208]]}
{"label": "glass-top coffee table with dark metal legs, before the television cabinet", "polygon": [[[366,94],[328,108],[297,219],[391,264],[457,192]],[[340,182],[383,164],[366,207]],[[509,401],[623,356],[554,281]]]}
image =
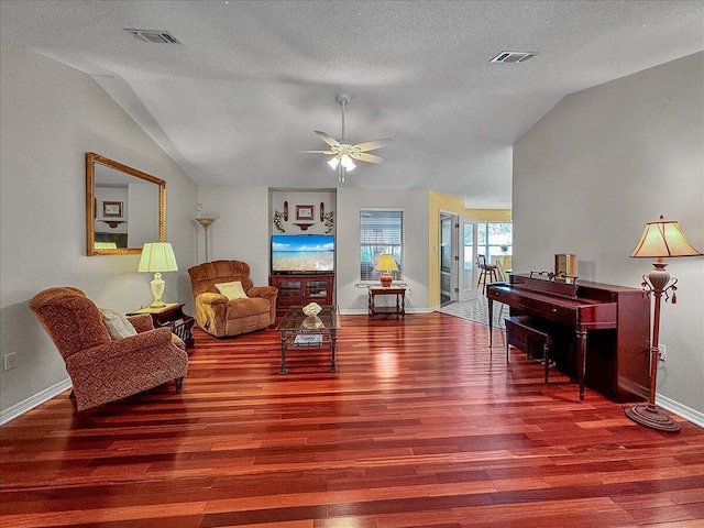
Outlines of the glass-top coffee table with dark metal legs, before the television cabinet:
{"label": "glass-top coffee table with dark metal legs, before the television cabinet", "polygon": [[330,372],[338,372],[336,360],[337,336],[340,324],[340,310],[337,306],[323,306],[317,316],[306,316],[302,306],[292,306],[276,331],[282,332],[282,367],[286,374],[286,351],[288,349],[330,349]]}

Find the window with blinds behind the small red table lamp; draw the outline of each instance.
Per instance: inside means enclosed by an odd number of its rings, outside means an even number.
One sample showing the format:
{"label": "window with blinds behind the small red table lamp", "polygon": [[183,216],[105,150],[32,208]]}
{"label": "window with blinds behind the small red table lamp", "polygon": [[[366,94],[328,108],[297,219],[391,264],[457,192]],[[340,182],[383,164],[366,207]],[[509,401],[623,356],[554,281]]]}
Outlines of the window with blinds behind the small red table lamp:
{"label": "window with blinds behind the small red table lamp", "polygon": [[360,210],[360,280],[378,282],[375,270],[382,253],[391,253],[396,260],[394,280],[404,276],[404,211],[398,209]]}

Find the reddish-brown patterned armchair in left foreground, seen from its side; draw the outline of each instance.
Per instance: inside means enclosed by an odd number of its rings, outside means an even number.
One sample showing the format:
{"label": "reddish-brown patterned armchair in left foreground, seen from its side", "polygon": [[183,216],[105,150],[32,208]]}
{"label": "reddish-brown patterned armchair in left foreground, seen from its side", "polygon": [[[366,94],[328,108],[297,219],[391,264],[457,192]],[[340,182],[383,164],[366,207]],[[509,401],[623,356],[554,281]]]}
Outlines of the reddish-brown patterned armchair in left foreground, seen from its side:
{"label": "reddish-brown patterned armchair in left foreground, seen from its side", "polygon": [[188,369],[183,341],[170,328],[154,329],[148,315],[129,317],[135,336],[113,339],[98,307],[77,288],[40,292],[30,309],[66,362],[72,398],[82,410],[125,398],[170,380],[180,393]]}

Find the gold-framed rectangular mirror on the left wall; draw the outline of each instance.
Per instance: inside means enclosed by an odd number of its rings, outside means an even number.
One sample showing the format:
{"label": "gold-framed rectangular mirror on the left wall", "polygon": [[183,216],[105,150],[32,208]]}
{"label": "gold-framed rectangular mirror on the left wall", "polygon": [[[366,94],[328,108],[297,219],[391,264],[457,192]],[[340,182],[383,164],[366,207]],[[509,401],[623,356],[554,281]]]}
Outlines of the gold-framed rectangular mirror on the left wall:
{"label": "gold-framed rectangular mirror on the left wall", "polygon": [[166,182],[87,152],[88,256],[140,254],[146,242],[166,242]]}

